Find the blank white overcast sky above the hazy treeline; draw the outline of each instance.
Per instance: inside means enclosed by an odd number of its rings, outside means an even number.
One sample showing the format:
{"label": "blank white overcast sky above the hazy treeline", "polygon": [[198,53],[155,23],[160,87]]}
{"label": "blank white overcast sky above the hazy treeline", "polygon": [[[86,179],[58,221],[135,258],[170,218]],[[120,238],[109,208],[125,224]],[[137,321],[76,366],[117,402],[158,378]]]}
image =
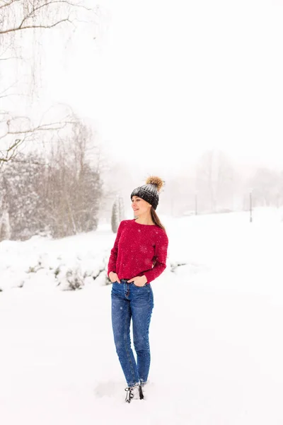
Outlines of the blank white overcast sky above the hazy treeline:
{"label": "blank white overcast sky above the hazy treeline", "polygon": [[52,100],[91,118],[113,157],[156,172],[216,148],[283,168],[283,1],[100,4],[101,35],[45,70]]}

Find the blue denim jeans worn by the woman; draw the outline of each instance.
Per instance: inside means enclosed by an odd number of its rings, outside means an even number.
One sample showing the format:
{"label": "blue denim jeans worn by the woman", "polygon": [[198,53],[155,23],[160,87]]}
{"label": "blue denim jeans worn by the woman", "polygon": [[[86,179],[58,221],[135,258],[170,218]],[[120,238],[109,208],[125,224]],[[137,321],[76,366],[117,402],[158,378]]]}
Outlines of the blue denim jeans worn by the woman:
{"label": "blue denim jeans worn by the woman", "polygon": [[[135,286],[122,279],[112,284],[112,329],[117,355],[127,380],[132,387],[146,382],[151,361],[149,349],[149,324],[154,307],[154,294],[151,285]],[[131,348],[129,326],[133,324],[134,349],[137,363]]]}

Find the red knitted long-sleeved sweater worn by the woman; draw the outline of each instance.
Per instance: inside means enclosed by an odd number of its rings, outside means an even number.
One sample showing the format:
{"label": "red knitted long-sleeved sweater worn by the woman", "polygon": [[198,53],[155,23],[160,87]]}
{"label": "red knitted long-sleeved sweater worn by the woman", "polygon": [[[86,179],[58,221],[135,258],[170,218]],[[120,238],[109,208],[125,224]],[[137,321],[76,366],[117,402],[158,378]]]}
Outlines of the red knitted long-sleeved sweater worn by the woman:
{"label": "red knitted long-sleeved sweater worn by the woman", "polygon": [[165,270],[167,249],[168,237],[161,227],[122,220],[111,249],[108,276],[110,271],[119,279],[144,275],[150,283]]}

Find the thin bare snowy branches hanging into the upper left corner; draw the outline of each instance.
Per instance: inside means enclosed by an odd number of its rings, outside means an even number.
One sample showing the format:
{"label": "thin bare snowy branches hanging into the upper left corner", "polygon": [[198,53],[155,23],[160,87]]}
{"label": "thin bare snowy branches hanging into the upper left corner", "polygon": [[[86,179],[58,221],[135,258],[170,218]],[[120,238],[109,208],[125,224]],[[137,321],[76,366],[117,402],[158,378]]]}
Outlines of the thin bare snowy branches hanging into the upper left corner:
{"label": "thin bare snowy branches hanging into the upper left corner", "polygon": [[[5,69],[6,74],[10,72],[8,63],[26,62],[30,81],[33,81],[31,91],[34,91],[43,32],[61,28],[64,35],[74,33],[78,23],[94,27],[97,13],[97,6],[88,0],[0,0],[0,166],[13,159],[18,147],[37,137],[39,132],[57,131],[66,125],[61,120],[35,125],[28,117],[14,116],[4,102],[11,96],[23,94],[20,93],[21,78],[4,86]],[[58,33],[58,38],[60,36],[62,33]],[[37,52],[27,51],[27,45],[31,45],[31,49],[37,45]]]}

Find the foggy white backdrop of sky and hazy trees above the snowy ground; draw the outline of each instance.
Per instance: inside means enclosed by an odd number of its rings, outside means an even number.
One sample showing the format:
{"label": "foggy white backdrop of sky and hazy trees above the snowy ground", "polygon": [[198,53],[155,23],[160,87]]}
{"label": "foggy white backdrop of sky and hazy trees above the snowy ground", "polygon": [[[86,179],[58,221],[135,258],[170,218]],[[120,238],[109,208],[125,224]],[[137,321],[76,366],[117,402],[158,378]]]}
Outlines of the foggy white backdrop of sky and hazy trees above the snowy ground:
{"label": "foggy white backdrop of sky and hazy trees above the snowy ground", "polygon": [[5,4],[11,239],[96,229],[117,196],[132,217],[129,195],[151,174],[165,181],[161,214],[282,205],[283,1],[62,2],[25,20],[58,25],[18,31],[28,2]]}

